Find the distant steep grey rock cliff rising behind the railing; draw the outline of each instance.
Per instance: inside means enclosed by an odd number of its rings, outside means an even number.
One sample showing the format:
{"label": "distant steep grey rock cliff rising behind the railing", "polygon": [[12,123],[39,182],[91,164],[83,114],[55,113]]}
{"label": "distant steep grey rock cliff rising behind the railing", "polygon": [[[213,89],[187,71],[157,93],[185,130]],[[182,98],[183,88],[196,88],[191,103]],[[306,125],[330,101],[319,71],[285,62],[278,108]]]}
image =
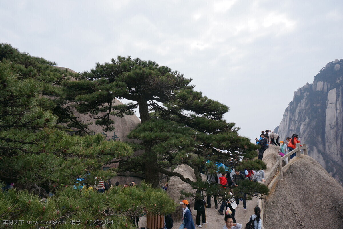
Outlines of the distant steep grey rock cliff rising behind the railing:
{"label": "distant steep grey rock cliff rising behind the railing", "polygon": [[309,156],[343,184],[343,59],[328,63],[313,83],[294,92],[274,131],[280,140],[298,134]]}

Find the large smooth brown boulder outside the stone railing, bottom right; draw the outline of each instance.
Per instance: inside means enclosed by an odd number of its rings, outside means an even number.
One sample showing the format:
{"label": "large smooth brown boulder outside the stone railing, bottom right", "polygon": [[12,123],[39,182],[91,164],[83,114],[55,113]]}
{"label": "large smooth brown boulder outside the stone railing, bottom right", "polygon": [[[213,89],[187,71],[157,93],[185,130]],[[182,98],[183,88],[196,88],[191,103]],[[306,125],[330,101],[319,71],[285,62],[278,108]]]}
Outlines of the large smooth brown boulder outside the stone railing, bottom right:
{"label": "large smooth brown boulder outside the stone railing, bottom right", "polygon": [[292,160],[266,198],[264,228],[343,228],[343,187],[315,159]]}

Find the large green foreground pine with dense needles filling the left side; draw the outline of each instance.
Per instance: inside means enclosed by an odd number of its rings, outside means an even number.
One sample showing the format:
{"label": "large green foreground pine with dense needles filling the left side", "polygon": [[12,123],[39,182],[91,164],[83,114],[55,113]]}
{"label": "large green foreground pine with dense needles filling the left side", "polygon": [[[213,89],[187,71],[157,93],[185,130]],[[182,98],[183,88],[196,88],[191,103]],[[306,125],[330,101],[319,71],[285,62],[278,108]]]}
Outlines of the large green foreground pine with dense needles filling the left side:
{"label": "large green foreground pine with dense needles filling the left side", "polygon": [[[11,52],[6,49],[4,54],[5,46],[0,46],[0,57]],[[106,220],[107,228],[135,228],[130,217],[141,215],[144,208],[149,213],[172,213],[174,201],[161,188],[144,182],[139,187],[111,188],[105,195],[80,190],[93,186],[96,177],[113,178],[116,169],[103,171],[102,166],[129,157],[133,149],[101,134],[69,135],[66,127],[57,125],[57,103],[47,98],[48,90],[63,96],[63,88],[56,86],[55,76],[43,80],[53,72],[39,70],[50,68],[50,62],[17,55],[18,59],[0,62],[0,228],[46,226],[35,221],[66,221],[58,228],[88,228],[99,224],[96,220]],[[7,190],[10,183],[15,189]]]}

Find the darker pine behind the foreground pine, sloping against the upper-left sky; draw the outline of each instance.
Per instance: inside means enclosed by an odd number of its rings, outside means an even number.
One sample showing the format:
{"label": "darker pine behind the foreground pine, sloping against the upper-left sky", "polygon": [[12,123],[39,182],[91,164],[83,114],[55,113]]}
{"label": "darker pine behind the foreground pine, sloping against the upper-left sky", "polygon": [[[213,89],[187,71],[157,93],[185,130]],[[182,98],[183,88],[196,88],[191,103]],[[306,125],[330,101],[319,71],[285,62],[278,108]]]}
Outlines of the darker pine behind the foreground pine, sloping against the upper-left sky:
{"label": "darker pine behind the foreground pine, sloping against the upper-left sky", "polygon": [[[9,44],[0,43],[0,61],[7,63],[11,69],[19,74],[19,79],[34,79],[40,82],[41,95],[37,98],[39,106],[51,111],[57,117],[59,128],[76,130],[76,134],[89,134],[90,123],[80,121],[73,115],[73,106],[68,101],[68,95],[62,87],[65,81],[75,74],[54,67],[51,62],[39,57],[32,57],[27,53],[20,53]],[[76,74],[77,75],[77,74]]]}

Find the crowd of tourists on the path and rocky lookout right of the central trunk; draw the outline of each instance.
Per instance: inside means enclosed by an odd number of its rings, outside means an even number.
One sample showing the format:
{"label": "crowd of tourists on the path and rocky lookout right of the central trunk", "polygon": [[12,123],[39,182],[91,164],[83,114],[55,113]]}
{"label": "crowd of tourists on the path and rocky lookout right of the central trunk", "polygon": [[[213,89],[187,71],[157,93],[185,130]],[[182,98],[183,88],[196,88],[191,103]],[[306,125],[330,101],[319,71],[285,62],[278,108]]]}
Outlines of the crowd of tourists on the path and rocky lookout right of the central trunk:
{"label": "crowd of tourists on the path and rocky lookout right of the central trunk", "polygon": [[[283,157],[288,152],[291,152],[296,148],[296,144],[300,143],[298,140],[299,136],[297,134],[293,134],[292,137],[287,137],[284,141],[279,141],[280,137],[278,134],[273,133],[271,130],[262,130],[259,139],[255,139],[256,143],[261,147],[258,150],[258,159],[263,160],[263,153],[266,149],[269,148],[270,145],[279,146],[279,154]],[[301,146],[301,145],[300,145]],[[296,156],[296,153],[293,153],[289,156],[290,159]],[[285,159],[286,164],[288,164],[288,157]],[[250,180],[253,182],[264,183],[264,171],[263,170],[242,170],[242,171],[235,171],[232,170],[231,172],[226,172],[224,174],[207,174],[207,181],[210,183],[219,183],[221,184],[221,188],[230,188],[238,186],[238,181],[240,180]],[[236,222],[235,215],[236,215],[236,208],[239,205],[239,202],[243,202],[243,210],[247,210],[246,205],[246,193],[240,193],[243,198],[235,198],[233,193],[230,190],[230,198],[223,199],[218,209],[218,213],[220,215],[225,215],[224,222],[225,225],[223,229],[240,229],[242,225]],[[211,197],[214,198],[214,205],[215,209],[218,208],[218,195],[208,195],[207,196],[207,205],[206,201],[204,200],[203,193],[201,191],[197,191],[196,198],[194,201],[194,210],[197,211],[196,216],[196,223],[194,224],[191,209],[189,206],[189,202],[184,199],[180,202],[182,207],[182,216],[183,222],[179,229],[195,229],[195,226],[201,228],[203,225],[207,224],[205,216],[205,207],[211,208]],[[224,211],[225,210],[225,211]],[[256,206],[254,209],[254,214],[252,214],[249,218],[249,222],[246,225],[246,228],[254,228],[254,229],[261,229],[262,220],[260,218],[261,209]]]}

